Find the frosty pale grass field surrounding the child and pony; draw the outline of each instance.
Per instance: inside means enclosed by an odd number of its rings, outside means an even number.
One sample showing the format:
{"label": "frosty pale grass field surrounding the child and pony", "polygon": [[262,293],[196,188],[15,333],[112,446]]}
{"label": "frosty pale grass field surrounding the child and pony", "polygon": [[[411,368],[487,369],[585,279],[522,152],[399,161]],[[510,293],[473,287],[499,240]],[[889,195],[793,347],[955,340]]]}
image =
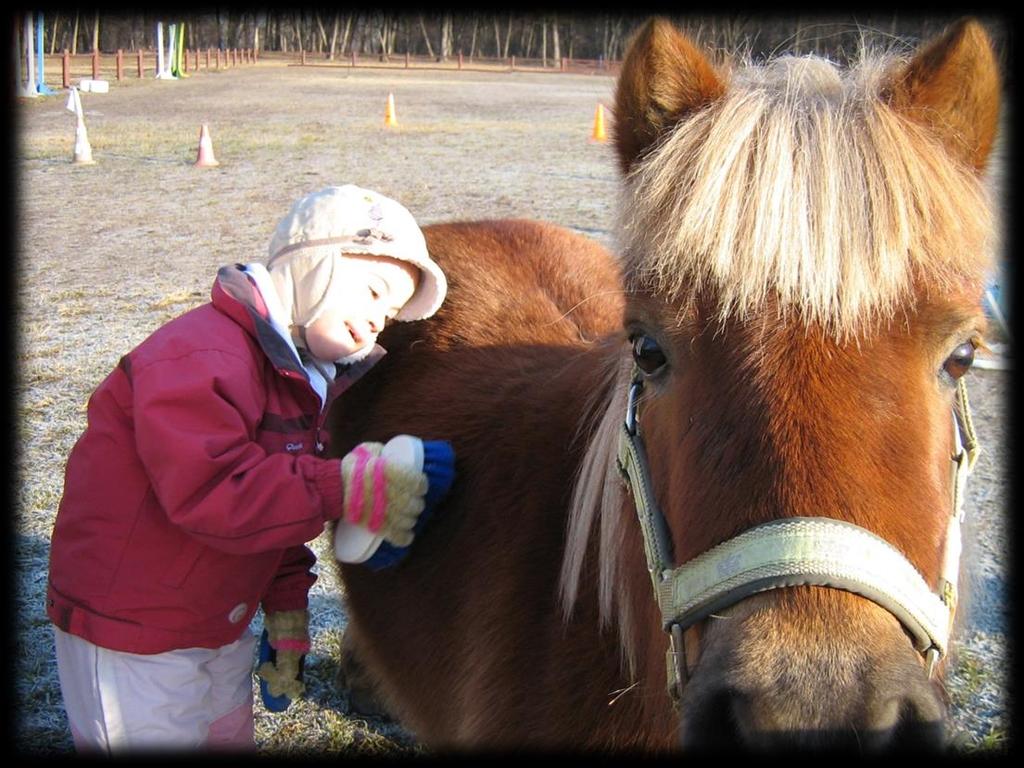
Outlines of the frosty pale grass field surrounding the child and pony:
{"label": "frosty pale grass field surrounding the child and pony", "polygon": [[[82,95],[93,166],[71,160],[66,96],[22,100],[17,173],[17,637],[14,669],[26,749],[68,752],[43,612],[47,542],[65,458],[84,403],[118,358],[204,302],[218,266],[260,260],[301,195],[353,182],[400,200],[421,223],[529,217],[605,245],[617,175],[609,143],[590,141],[602,76],[244,67],[184,81],[125,81]],[[398,128],[383,127],[388,93]],[[193,167],[207,124],[220,166]],[[979,529],[967,560],[975,599],[948,687],[965,742],[998,745],[1007,685],[1009,376],[970,374],[986,446],[969,487]],[[318,546],[323,546],[319,543]],[[323,572],[323,571],[322,571]],[[333,689],[344,611],[324,572],[313,595],[310,701],[260,712],[267,751],[415,749],[386,721],[349,719]],[[967,659],[966,662],[964,659]]]}

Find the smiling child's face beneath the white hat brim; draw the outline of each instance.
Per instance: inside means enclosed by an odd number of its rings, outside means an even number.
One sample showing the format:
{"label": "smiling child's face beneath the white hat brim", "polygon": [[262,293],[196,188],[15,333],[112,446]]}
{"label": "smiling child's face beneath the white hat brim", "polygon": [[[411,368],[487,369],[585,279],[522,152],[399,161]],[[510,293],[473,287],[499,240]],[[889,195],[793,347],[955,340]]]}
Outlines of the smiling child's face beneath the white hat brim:
{"label": "smiling child's face beneath the white hat brim", "polygon": [[386,256],[343,256],[331,282],[331,306],[305,329],[306,348],[339,360],[373,345],[413,294],[420,270]]}

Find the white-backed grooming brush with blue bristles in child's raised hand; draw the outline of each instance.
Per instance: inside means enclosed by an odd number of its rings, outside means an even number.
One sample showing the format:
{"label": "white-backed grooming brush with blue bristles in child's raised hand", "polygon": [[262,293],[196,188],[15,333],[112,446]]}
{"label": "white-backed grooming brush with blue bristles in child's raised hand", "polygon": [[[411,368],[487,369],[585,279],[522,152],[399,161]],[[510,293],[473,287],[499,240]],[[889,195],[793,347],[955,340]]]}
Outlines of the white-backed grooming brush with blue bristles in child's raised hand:
{"label": "white-backed grooming brush with blue bristles in child's raised hand", "polygon": [[[381,456],[389,462],[403,464],[427,476],[424,509],[413,531],[419,535],[433,514],[434,507],[444,498],[455,480],[455,451],[444,440],[421,440],[408,434],[392,437],[385,443]],[[410,545],[412,546],[412,545]],[[381,570],[401,561],[409,547],[396,547],[372,534],[361,525],[338,520],[334,530],[334,555],[342,562],[366,563]]]}

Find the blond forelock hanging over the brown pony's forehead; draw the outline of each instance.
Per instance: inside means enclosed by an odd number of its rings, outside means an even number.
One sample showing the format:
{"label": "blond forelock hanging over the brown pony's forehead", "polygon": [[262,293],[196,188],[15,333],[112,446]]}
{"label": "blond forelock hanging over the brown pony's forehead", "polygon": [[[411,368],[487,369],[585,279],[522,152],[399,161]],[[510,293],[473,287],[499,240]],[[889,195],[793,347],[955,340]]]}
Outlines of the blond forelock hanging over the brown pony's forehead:
{"label": "blond forelock hanging over the brown pony's forehead", "polygon": [[984,188],[888,103],[894,60],[735,69],[626,179],[628,288],[681,304],[714,291],[722,321],[774,297],[843,338],[893,316],[916,282],[978,279],[991,245]]}

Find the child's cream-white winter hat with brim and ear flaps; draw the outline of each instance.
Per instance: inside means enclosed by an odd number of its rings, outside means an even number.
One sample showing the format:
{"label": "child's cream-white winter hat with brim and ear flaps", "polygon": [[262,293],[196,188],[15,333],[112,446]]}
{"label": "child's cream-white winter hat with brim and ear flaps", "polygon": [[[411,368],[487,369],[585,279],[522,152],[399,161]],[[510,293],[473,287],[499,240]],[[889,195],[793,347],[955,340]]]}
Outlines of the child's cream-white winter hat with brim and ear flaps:
{"label": "child's cream-white winter hat with brim and ear flaps", "polygon": [[270,239],[266,267],[294,322],[307,325],[324,310],[334,274],[329,257],[342,254],[388,256],[419,267],[416,293],[395,319],[424,319],[444,301],[447,281],[413,214],[354,184],[329,186],[296,202]]}

